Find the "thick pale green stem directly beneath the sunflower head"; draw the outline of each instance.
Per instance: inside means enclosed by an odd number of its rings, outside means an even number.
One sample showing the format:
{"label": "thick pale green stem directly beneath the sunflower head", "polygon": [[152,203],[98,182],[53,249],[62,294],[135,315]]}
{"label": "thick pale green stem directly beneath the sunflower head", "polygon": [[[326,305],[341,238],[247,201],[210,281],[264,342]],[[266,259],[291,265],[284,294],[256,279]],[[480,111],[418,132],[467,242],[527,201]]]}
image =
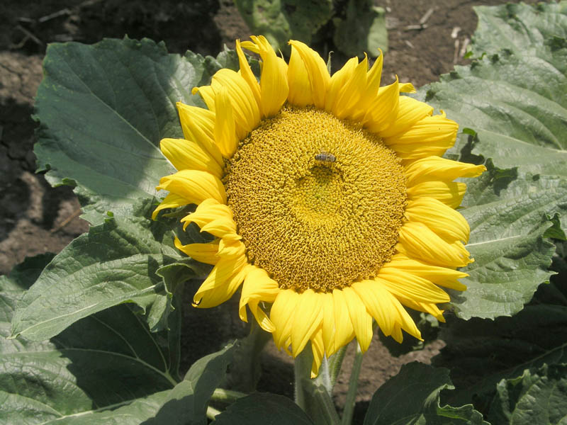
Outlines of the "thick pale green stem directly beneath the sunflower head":
{"label": "thick pale green stem directly beneath the sunflower head", "polygon": [[318,378],[310,379],[313,353],[306,346],[296,357],[296,404],[310,416],[315,425],[339,425],[340,419],[330,394],[330,376],[326,360],[322,361]]}

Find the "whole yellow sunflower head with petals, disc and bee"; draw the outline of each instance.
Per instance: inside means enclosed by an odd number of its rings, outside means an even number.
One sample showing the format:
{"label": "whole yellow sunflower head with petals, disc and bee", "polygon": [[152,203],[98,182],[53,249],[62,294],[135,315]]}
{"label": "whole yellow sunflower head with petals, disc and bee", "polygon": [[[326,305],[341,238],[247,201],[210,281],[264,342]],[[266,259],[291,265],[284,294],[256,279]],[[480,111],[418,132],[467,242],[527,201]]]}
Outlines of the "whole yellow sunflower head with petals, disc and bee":
{"label": "whole yellow sunflower head with petals, disc and bee", "polygon": [[[215,239],[178,249],[214,267],[193,298],[214,307],[242,287],[247,308],[298,356],[310,342],[312,375],[354,337],[364,352],[372,319],[386,336],[420,339],[405,307],[443,321],[443,288],[465,290],[469,227],[454,208],[458,177],[484,166],[441,156],[458,125],[444,113],[380,86],[382,55],[354,57],[332,76],[291,40],[287,64],[266,38],[236,42],[240,72],[220,69],[193,89],[208,110],[178,103],[184,139],[164,139],[179,170],[157,186],[159,210],[196,204],[181,219]],[[259,81],[242,48],[259,55]],[[271,305],[271,308],[270,308]]]}

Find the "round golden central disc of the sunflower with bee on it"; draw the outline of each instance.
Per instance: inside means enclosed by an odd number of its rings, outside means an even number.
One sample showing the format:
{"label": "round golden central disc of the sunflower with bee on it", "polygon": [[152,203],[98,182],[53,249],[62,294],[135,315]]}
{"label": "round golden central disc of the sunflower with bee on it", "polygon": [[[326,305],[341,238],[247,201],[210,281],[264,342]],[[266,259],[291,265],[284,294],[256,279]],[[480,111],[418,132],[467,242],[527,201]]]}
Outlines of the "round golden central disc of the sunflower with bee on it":
{"label": "round golden central disc of the sunflower with bee on it", "polygon": [[248,260],[280,288],[331,292],[390,261],[406,203],[400,159],[360,125],[286,106],[226,163]]}

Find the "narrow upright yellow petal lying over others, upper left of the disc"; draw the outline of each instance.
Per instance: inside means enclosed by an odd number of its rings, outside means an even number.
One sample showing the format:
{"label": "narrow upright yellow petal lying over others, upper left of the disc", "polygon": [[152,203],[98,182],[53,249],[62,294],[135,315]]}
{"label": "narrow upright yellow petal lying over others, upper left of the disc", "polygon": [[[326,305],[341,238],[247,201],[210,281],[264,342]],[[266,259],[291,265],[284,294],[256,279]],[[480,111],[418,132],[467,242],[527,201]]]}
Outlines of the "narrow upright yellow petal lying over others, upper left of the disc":
{"label": "narrow upright yellow petal lying over others, upper left of the disc", "polygon": [[232,104],[226,87],[220,86],[215,94],[215,142],[223,157],[229,159],[238,146]]}

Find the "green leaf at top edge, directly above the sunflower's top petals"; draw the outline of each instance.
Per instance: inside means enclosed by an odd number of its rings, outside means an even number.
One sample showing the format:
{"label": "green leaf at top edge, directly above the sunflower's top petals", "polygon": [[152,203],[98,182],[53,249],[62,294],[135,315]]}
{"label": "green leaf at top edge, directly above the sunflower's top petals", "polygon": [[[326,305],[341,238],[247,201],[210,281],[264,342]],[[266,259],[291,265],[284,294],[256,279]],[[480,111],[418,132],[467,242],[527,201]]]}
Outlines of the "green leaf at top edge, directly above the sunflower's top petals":
{"label": "green leaf at top edge, directly above the sunflower's top petals", "polygon": [[288,40],[307,44],[332,16],[331,0],[235,0],[254,34],[264,35],[276,50],[289,52]]}

